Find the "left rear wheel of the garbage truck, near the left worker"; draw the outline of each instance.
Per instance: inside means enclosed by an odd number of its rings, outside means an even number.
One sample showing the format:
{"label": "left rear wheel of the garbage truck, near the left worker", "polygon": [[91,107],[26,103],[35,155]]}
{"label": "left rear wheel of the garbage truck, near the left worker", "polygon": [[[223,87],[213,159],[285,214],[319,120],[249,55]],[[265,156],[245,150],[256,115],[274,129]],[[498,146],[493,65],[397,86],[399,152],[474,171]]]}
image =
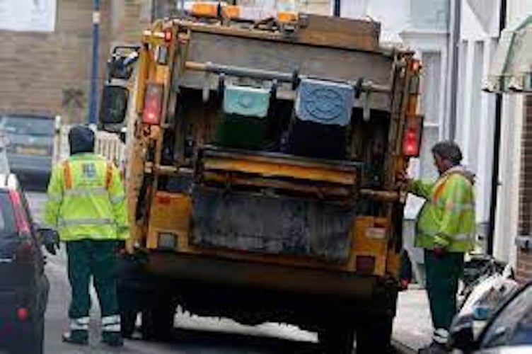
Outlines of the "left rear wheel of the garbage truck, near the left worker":
{"label": "left rear wheel of the garbage truck, near the left worker", "polygon": [[146,341],[168,341],[173,330],[176,305],[171,298],[157,298],[142,311],[142,338]]}

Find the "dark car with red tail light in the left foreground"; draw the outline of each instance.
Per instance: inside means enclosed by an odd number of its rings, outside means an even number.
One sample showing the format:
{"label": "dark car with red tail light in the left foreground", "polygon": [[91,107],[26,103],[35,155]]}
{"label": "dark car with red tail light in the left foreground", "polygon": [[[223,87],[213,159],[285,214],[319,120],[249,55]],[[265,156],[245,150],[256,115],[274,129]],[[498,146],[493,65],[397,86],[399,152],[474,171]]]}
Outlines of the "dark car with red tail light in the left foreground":
{"label": "dark car with red tail light in the left foreground", "polygon": [[0,352],[42,353],[49,282],[40,234],[15,175],[0,175]]}

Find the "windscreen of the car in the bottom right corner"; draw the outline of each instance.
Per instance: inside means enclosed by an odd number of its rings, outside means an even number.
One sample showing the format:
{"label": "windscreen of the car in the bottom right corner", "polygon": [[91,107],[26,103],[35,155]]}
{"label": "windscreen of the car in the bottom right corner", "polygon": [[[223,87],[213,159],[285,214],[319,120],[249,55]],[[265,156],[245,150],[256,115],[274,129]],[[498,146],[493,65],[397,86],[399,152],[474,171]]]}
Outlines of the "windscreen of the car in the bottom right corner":
{"label": "windscreen of the car in the bottom right corner", "polygon": [[482,348],[532,345],[532,285],[519,292],[487,327]]}

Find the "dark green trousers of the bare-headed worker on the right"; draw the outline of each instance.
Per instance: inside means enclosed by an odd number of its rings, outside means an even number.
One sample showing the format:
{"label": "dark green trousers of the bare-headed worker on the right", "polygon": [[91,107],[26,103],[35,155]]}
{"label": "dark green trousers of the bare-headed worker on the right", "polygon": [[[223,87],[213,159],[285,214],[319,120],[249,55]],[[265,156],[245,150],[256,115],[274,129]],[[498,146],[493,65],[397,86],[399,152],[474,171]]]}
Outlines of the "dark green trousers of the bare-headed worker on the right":
{"label": "dark green trousers of the bare-headed worker on the right", "polygon": [[463,253],[444,253],[435,256],[432,250],[425,250],[427,270],[427,293],[434,329],[449,331],[456,314],[456,293],[458,279],[463,275]]}

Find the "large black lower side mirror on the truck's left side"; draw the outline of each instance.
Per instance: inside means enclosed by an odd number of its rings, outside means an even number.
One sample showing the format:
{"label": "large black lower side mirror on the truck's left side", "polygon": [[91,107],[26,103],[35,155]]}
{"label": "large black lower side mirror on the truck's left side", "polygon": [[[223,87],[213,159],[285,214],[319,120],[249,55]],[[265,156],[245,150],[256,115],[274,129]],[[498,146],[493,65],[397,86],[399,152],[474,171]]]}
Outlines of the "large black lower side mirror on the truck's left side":
{"label": "large black lower side mirror on the truck's left side", "polygon": [[103,125],[122,124],[126,117],[129,91],[123,86],[103,86],[100,105],[100,123]]}

